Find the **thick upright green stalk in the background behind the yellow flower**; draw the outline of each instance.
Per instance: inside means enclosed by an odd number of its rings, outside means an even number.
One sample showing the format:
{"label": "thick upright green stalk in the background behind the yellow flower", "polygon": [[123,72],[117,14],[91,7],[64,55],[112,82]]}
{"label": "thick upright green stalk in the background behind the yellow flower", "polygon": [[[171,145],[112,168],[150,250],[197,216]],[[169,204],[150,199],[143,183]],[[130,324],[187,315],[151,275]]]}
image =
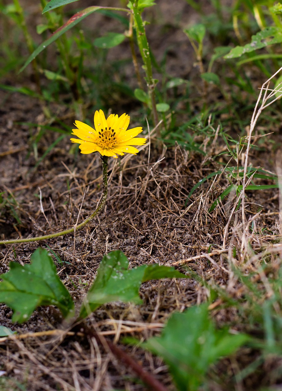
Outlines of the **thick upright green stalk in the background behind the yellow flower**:
{"label": "thick upright green stalk in the background behind the yellow flower", "polygon": [[[151,101],[152,113],[153,113],[153,123],[154,126],[158,123],[158,114],[156,107],[156,99],[155,99],[155,81],[153,79],[153,71],[152,71],[152,63],[150,57],[150,49],[148,40],[146,37],[145,27],[141,15],[139,13],[137,2],[131,3],[133,7],[133,16],[134,16],[134,27],[136,29],[137,35],[137,44],[139,47],[139,51],[144,63],[144,70],[146,73],[146,83],[148,87],[148,94]],[[157,137],[160,138],[160,130],[157,128]]]}

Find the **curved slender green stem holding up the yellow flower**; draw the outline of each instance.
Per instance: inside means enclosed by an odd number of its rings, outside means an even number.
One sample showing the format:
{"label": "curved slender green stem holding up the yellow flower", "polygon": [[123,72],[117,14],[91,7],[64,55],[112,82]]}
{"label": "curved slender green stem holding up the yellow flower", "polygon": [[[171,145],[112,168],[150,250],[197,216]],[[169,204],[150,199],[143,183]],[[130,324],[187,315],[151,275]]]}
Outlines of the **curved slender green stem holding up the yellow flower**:
{"label": "curved slender green stem holding up the yellow flower", "polygon": [[52,239],[58,236],[62,235],[67,235],[68,233],[76,232],[81,230],[83,227],[88,224],[93,217],[95,217],[100,210],[105,205],[105,202],[107,200],[107,195],[108,195],[108,156],[101,156],[102,159],[102,167],[103,167],[103,194],[102,194],[102,199],[100,201],[100,204],[97,206],[96,210],[89,216],[87,217],[86,220],[84,220],[82,223],[78,224],[77,226],[74,225],[73,228],[69,228],[68,230],[56,232],[56,233],[50,233],[49,235],[43,235],[43,236],[36,236],[33,238],[26,238],[26,239],[11,239],[11,240],[1,240],[0,244],[12,244],[12,243],[26,243],[26,242],[37,242],[39,240],[45,240],[45,239]]}

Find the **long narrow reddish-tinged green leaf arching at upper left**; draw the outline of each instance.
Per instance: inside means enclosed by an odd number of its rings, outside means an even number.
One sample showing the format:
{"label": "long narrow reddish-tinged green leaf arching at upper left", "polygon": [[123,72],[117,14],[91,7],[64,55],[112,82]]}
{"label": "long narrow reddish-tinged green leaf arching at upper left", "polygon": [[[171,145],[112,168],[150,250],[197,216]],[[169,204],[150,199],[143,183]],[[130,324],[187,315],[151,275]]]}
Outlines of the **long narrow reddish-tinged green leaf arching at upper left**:
{"label": "long narrow reddish-tinged green leaf arching at upper left", "polygon": [[[70,30],[73,26],[77,25],[77,23],[81,22],[86,16],[89,16],[93,14],[93,12],[98,11],[98,9],[101,9],[102,7],[88,7],[82,11],[79,11],[78,13],[74,14],[68,22],[66,22],[64,25],[59,27],[51,36],[50,38],[46,39],[46,41],[42,42],[32,54],[30,54],[29,58],[25,62],[25,64],[21,67],[20,72],[22,72],[30,63],[32,60],[34,60],[39,53],[41,53],[47,46],[49,46],[51,43],[53,43],[57,38],[59,38],[62,34]],[[19,73],[20,73],[19,72]]]}

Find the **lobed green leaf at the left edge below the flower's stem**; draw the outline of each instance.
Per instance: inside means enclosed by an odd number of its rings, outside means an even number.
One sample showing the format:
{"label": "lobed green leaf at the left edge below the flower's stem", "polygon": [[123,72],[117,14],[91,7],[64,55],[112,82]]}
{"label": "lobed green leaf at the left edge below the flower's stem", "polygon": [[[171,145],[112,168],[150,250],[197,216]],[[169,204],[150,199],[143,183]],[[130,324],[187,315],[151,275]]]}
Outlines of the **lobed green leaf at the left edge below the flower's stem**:
{"label": "lobed green leaf at the left edge below the flower's stem", "polygon": [[64,317],[72,316],[73,301],[48,251],[37,249],[30,262],[25,266],[10,262],[9,272],[1,274],[0,303],[12,308],[12,321],[27,321],[40,305],[56,305]]}

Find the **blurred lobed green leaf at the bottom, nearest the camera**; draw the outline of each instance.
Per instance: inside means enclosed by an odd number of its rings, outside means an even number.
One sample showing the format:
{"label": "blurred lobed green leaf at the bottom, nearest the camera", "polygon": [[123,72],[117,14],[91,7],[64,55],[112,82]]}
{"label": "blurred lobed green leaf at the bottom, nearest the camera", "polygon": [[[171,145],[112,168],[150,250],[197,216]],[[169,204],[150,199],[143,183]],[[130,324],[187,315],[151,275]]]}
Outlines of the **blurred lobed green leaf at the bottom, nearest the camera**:
{"label": "blurred lobed green leaf at the bottom, nearest the camera", "polygon": [[207,304],[172,314],[160,337],[143,346],[161,356],[170,369],[179,391],[197,391],[211,364],[234,353],[248,341],[245,334],[216,330]]}

